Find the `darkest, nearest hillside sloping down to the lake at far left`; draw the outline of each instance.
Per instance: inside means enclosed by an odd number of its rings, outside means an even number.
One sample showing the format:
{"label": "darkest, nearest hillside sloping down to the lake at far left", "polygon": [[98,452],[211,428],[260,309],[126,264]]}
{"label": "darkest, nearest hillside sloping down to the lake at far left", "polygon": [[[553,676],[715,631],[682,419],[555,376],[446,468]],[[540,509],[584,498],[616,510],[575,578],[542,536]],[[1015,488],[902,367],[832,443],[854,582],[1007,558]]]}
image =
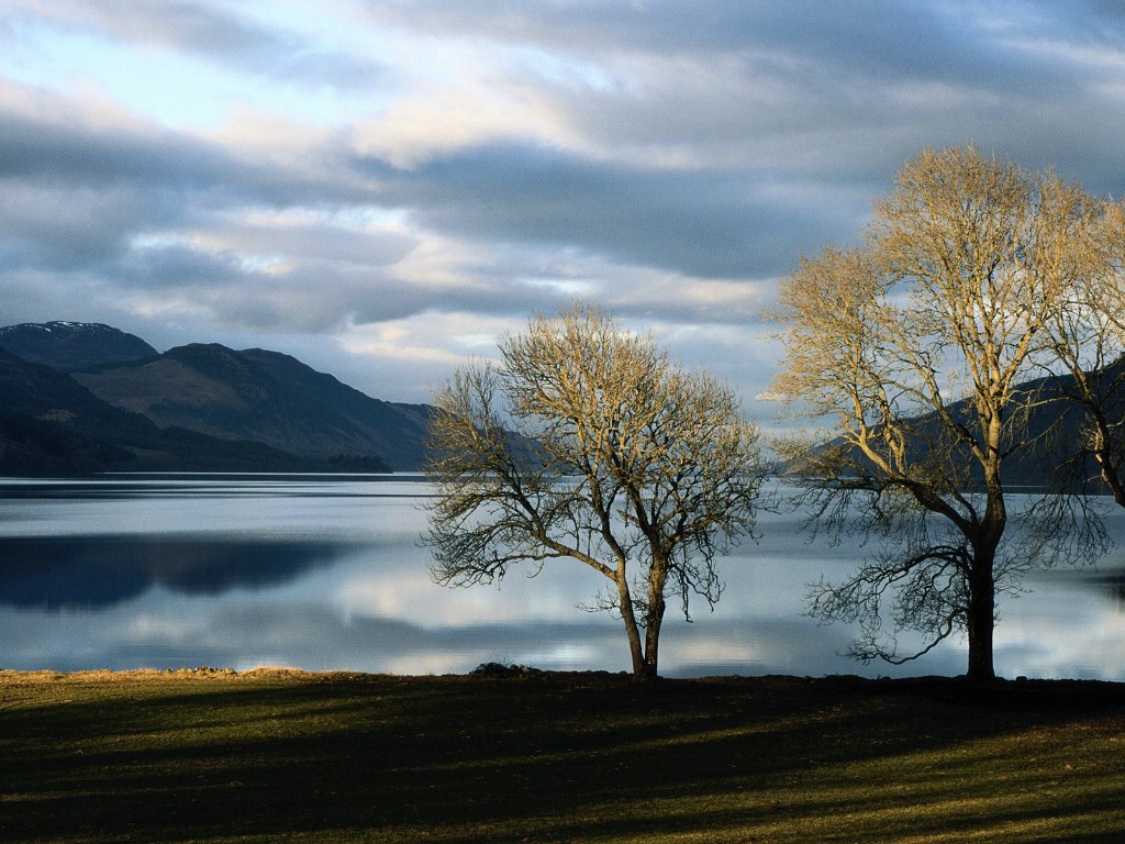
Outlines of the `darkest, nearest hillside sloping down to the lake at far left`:
{"label": "darkest, nearest hillside sloping down to the lake at far left", "polygon": [[289,455],[259,442],[158,428],[141,414],[101,401],[65,372],[0,348],[0,475],[335,468],[331,461]]}

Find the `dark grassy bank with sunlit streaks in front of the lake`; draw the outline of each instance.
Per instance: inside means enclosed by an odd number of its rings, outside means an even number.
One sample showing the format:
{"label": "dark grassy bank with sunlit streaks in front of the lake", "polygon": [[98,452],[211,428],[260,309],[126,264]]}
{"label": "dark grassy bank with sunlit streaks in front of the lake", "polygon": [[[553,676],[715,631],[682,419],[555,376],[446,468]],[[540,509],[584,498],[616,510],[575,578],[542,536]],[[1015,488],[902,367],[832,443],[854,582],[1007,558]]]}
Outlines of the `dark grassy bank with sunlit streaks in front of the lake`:
{"label": "dark grassy bank with sunlit streaks in front of the lake", "polygon": [[6,842],[1125,841],[1125,686],[0,672]]}

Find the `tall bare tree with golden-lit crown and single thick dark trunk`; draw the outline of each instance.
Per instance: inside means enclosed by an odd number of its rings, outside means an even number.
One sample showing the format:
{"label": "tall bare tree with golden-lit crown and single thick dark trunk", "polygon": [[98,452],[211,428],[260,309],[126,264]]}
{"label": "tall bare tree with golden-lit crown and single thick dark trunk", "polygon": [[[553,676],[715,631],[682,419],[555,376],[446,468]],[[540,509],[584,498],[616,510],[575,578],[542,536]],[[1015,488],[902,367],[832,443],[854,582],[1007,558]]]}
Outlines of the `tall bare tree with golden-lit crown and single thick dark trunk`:
{"label": "tall bare tree with golden-lit crown and single thick dark trunk", "polygon": [[[1005,485],[1045,401],[1025,383],[1072,289],[1084,200],[972,147],[926,151],[861,246],[804,259],[783,284],[774,389],[830,425],[778,448],[817,529],[876,540],[853,577],[810,587],[812,614],[860,623],[854,656],[903,662],[963,631],[968,676],[991,679],[998,593],[1097,551],[1097,523],[1071,500],[1011,511]],[[904,654],[902,629],[921,636]]]}

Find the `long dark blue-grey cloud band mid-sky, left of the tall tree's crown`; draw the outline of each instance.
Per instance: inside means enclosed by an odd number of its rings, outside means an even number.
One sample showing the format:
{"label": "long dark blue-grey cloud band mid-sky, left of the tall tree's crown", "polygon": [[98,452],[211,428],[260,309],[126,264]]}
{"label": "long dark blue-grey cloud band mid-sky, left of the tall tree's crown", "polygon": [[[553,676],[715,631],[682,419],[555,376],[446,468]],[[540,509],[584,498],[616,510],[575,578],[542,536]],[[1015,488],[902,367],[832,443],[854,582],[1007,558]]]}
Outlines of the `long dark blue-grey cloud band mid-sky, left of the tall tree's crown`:
{"label": "long dark blue-grey cloud band mid-sky, left of the tall tree's crown", "polygon": [[528,145],[476,147],[408,172],[367,167],[386,204],[410,203],[436,231],[548,249],[576,244],[691,275],[774,273],[792,263],[783,233],[826,233],[819,208],[775,201],[771,174],[754,170],[669,172]]}

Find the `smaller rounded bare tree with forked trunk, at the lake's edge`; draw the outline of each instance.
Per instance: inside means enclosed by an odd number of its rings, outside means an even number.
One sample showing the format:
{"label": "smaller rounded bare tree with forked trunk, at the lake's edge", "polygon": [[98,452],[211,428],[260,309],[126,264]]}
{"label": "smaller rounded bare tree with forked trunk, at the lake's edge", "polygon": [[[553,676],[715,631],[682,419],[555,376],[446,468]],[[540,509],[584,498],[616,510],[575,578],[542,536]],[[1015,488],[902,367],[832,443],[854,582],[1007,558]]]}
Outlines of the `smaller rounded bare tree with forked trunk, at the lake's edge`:
{"label": "smaller rounded bare tree with forked trunk, at the lake's edge", "polygon": [[[732,390],[594,307],[531,320],[438,393],[424,542],[443,584],[572,558],[608,581],[637,677],[656,676],[666,599],[713,605],[717,555],[754,536],[757,428]],[[644,637],[642,637],[644,632]]]}

